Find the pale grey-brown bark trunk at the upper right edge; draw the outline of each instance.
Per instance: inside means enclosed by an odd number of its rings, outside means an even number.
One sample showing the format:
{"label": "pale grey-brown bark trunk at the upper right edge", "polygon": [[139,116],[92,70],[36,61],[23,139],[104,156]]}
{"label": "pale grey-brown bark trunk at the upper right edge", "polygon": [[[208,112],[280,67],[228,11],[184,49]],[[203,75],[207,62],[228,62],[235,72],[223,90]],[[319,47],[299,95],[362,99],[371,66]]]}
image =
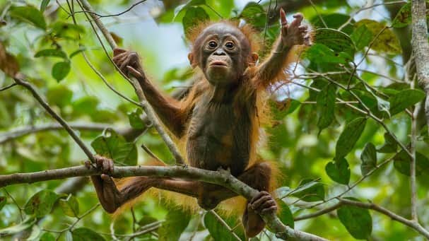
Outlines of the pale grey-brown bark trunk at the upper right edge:
{"label": "pale grey-brown bark trunk at the upper right edge", "polygon": [[426,93],[425,116],[426,124],[429,124],[429,43],[428,25],[426,24],[426,3],[425,0],[413,0],[411,2],[411,28],[413,31],[411,46],[416,58],[418,82]]}

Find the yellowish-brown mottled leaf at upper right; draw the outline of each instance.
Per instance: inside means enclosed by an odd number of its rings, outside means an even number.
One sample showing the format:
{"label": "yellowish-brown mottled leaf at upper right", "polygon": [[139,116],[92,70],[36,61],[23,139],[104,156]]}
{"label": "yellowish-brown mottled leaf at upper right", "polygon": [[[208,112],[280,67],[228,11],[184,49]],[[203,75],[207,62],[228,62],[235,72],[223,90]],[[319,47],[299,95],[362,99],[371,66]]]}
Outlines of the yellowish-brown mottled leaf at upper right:
{"label": "yellowish-brown mottled leaf at upper right", "polygon": [[387,54],[400,54],[402,52],[398,38],[394,35],[393,31],[387,28],[383,23],[379,23],[375,20],[363,19],[355,23],[355,25],[357,28],[361,25],[365,25],[368,30],[371,31],[371,49]]}

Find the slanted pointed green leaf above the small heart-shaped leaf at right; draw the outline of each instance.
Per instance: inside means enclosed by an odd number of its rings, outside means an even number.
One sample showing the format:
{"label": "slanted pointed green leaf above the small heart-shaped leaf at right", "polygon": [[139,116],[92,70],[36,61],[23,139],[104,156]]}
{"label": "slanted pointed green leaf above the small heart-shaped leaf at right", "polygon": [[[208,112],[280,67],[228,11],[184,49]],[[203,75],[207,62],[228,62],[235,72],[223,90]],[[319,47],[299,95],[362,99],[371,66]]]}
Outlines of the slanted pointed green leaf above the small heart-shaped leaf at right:
{"label": "slanted pointed green leaf above the small heart-shaped leaf at right", "polygon": [[355,146],[355,143],[365,129],[365,124],[365,117],[358,117],[346,124],[338,141],[336,141],[335,159],[338,160],[345,157],[353,149],[353,146]]}

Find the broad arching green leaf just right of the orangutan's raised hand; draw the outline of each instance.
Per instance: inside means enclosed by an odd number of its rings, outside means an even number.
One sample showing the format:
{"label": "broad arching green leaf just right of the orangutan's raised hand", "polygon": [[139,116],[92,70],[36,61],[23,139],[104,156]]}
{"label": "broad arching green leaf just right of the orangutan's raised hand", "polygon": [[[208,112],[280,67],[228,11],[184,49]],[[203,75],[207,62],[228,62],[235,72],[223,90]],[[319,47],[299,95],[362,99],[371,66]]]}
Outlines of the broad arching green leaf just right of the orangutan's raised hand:
{"label": "broad arching green leaf just right of the orangutan's raised hand", "polygon": [[[315,33],[315,43],[322,44],[334,50],[335,55],[342,55],[348,60],[355,56],[355,45],[348,35],[330,28],[319,28]],[[342,53],[342,54],[341,54]]]}

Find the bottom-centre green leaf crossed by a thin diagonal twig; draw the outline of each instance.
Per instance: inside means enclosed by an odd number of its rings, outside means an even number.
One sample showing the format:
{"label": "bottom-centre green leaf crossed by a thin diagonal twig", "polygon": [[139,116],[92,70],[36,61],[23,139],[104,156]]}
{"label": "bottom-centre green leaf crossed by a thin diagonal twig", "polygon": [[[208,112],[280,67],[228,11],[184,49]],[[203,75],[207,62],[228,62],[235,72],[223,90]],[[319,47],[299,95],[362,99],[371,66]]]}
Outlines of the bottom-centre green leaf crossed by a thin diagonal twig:
{"label": "bottom-centre green leaf crossed by a thin diagonal twig", "polygon": [[[225,218],[223,216],[221,216],[221,218],[223,221],[225,221],[225,223],[228,224],[228,226],[230,226],[230,228],[236,227],[238,224],[237,218]],[[204,214],[204,226],[208,229],[208,233],[210,233],[211,237],[213,237],[213,240],[237,240],[233,234],[227,228],[225,228],[221,221],[218,221],[218,218],[216,218],[213,213],[207,212]],[[241,240],[245,240],[245,235],[241,227],[235,229],[234,233],[240,237]]]}

